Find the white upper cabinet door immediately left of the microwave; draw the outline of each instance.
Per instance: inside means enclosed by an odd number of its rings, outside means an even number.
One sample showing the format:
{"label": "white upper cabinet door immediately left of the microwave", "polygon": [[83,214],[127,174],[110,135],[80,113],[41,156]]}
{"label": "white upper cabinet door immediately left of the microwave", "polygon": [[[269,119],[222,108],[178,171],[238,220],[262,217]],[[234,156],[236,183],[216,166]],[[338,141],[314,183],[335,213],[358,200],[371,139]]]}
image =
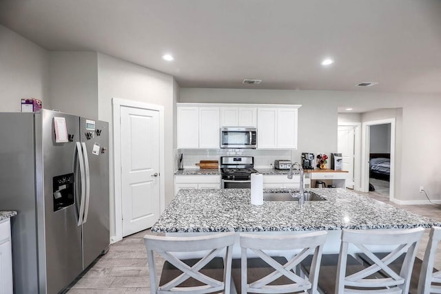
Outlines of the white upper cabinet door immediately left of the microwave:
{"label": "white upper cabinet door immediately left of the microwave", "polygon": [[218,149],[219,138],[219,107],[199,108],[199,148]]}

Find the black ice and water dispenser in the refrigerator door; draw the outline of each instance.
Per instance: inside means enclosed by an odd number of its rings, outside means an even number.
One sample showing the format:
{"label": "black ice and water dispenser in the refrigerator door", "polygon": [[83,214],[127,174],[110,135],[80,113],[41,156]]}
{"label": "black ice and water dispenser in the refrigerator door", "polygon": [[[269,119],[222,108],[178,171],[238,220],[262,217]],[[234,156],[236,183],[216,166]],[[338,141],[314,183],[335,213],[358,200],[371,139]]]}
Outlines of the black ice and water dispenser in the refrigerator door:
{"label": "black ice and water dispenser in the refrigerator door", "polygon": [[54,176],[52,178],[54,211],[59,211],[74,204],[74,174]]}

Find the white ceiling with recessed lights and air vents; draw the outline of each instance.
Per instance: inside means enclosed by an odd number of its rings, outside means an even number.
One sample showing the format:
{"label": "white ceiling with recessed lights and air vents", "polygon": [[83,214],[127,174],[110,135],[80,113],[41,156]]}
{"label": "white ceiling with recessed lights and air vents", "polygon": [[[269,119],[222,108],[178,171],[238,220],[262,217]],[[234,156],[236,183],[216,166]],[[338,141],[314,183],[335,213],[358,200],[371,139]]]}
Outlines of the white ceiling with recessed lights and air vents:
{"label": "white ceiling with recessed lights and air vents", "polygon": [[[439,0],[0,0],[0,23],[47,50],[103,52],[181,87],[441,94]],[[336,62],[325,68],[327,56]]]}

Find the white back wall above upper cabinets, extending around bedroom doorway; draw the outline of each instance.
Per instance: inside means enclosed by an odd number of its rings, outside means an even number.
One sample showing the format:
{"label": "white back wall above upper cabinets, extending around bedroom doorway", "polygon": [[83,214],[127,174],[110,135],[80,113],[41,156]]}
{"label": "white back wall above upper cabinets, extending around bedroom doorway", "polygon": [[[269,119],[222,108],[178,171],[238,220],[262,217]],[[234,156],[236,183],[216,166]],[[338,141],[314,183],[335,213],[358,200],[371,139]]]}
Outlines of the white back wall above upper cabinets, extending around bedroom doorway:
{"label": "white back wall above upper cabinets, extending around bedroom doorway", "polygon": [[[379,110],[362,115],[362,121],[396,118],[396,198],[425,200],[421,185],[431,199],[441,199],[441,169],[428,156],[441,149],[441,95],[382,92],[234,90],[181,88],[183,103],[280,103],[301,104],[299,109],[298,160],[301,152],[330,153],[337,148],[338,107]],[[354,119],[343,116],[342,120]],[[355,118],[357,119],[357,118]],[[360,121],[360,120],[358,120]],[[424,162],[424,164],[421,164]]]}

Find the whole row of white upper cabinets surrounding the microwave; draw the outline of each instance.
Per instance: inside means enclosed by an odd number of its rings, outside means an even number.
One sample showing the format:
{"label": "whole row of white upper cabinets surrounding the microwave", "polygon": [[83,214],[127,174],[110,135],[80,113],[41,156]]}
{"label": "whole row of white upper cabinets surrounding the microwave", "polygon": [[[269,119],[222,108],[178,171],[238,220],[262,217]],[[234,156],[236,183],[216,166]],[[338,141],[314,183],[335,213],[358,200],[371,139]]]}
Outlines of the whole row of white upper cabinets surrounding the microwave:
{"label": "whole row of white upper cabinets surrounding the microwave", "polygon": [[257,127],[258,149],[296,149],[300,106],[178,103],[178,149],[219,149],[220,127]]}

